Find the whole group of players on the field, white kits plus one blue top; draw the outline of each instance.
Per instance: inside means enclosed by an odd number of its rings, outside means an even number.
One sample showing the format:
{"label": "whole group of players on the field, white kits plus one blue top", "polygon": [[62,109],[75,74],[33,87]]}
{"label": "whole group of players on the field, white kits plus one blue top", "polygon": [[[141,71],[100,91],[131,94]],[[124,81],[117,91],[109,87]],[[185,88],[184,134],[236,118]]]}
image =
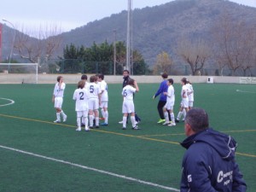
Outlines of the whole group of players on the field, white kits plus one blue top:
{"label": "whole group of players on the field, white kits plus one blue top", "polygon": [[[156,96],[160,95],[160,102],[158,104],[160,120],[158,123],[162,123],[162,125],[175,126],[176,123],[180,121],[181,117],[183,116],[184,119],[189,109],[193,108],[193,86],[188,79],[181,79],[182,101],[177,114],[177,119],[175,119],[173,113],[173,107],[175,104],[175,91],[172,85],[173,79],[167,79],[168,75],[166,73],[162,74],[162,77],[164,80],[161,82],[159,90],[153,96],[154,99]],[[129,114],[131,114],[132,129],[138,130],[139,128],[137,127],[133,97],[134,93],[139,91],[139,88],[134,79],[127,79],[127,76],[125,75],[124,82],[125,84],[123,84],[122,90],[122,96],[124,98],[122,107],[123,119],[120,123],[123,124],[123,130],[125,130],[127,119]],[[56,109],[55,123],[60,123],[61,117],[63,122],[67,120],[67,115],[61,109],[65,87],[66,84],[63,82],[63,77],[57,77],[57,83],[55,84],[52,98]],[[77,112],[78,125],[76,131],[81,131],[82,127],[84,127],[85,131],[90,131],[94,125],[96,128],[99,128],[99,108],[101,108],[102,119],[104,119],[104,123],[101,125],[108,125],[108,84],[104,80],[103,74],[90,76],[89,83],[87,82],[87,76],[82,75],[81,80],[78,83],[78,88],[74,90],[73,100],[76,101],[75,111]]]}

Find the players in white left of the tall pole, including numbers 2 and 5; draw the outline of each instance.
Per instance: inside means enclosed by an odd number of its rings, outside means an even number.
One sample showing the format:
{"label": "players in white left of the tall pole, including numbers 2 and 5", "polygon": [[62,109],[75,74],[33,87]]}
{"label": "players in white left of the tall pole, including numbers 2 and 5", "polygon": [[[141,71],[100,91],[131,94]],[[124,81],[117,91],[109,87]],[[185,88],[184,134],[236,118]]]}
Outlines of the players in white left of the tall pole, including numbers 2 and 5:
{"label": "players in white left of the tall pole, including numbers 2 and 5", "polygon": [[[61,109],[65,86],[63,78],[59,76],[53,94],[57,117],[55,123],[61,122],[61,114],[63,122],[67,120],[67,115]],[[73,100],[76,101],[75,111],[77,112],[78,125],[76,131],[81,131],[82,126],[84,126],[85,131],[90,131],[94,124],[96,128],[99,128],[99,108],[101,108],[102,119],[104,119],[102,125],[108,125],[108,84],[104,80],[103,74],[90,76],[89,83],[87,76],[82,75],[78,88],[74,90]]]}

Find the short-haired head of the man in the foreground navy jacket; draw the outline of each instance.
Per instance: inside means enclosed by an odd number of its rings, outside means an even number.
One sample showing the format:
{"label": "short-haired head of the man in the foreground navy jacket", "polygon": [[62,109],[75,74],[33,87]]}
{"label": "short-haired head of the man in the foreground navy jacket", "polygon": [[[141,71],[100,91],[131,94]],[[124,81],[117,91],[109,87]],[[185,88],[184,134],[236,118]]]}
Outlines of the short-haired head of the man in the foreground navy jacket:
{"label": "short-haired head of the man in the foreground navy jacket", "polygon": [[209,127],[207,112],[202,108],[191,108],[186,114],[185,126],[189,125],[196,133]]}

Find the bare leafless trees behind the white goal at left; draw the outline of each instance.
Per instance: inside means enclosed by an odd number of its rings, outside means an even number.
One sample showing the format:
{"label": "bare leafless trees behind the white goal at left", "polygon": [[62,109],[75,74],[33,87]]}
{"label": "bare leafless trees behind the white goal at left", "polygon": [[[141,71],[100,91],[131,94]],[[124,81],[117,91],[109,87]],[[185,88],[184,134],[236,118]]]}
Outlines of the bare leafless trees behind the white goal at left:
{"label": "bare leafless trees behind the white goal at left", "polygon": [[[24,27],[17,34],[15,49],[21,58],[31,62],[38,62],[44,70],[48,70],[47,61],[55,54],[61,44],[58,26],[40,27],[36,36],[32,32],[25,32]],[[32,37],[33,36],[33,37]]]}

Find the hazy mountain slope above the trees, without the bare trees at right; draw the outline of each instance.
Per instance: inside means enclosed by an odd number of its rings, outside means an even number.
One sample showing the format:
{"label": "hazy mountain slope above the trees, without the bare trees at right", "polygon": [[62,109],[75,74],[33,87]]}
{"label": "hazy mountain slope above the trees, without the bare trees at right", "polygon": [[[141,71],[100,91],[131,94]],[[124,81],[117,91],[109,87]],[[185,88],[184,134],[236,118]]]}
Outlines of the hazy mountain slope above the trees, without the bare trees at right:
{"label": "hazy mountain slope above the trees, without the bare trees at right", "polygon": [[[133,47],[143,54],[149,65],[154,64],[156,56],[166,51],[176,58],[177,41],[183,37],[211,37],[213,24],[219,15],[230,13],[234,20],[245,20],[255,25],[256,8],[239,5],[225,0],[176,0],[152,8],[134,9]],[[94,42],[102,44],[105,40],[113,43],[125,41],[127,11],[95,20],[87,25],[60,34],[62,46],[75,44],[90,47]],[[60,49],[56,55],[62,55]]]}

